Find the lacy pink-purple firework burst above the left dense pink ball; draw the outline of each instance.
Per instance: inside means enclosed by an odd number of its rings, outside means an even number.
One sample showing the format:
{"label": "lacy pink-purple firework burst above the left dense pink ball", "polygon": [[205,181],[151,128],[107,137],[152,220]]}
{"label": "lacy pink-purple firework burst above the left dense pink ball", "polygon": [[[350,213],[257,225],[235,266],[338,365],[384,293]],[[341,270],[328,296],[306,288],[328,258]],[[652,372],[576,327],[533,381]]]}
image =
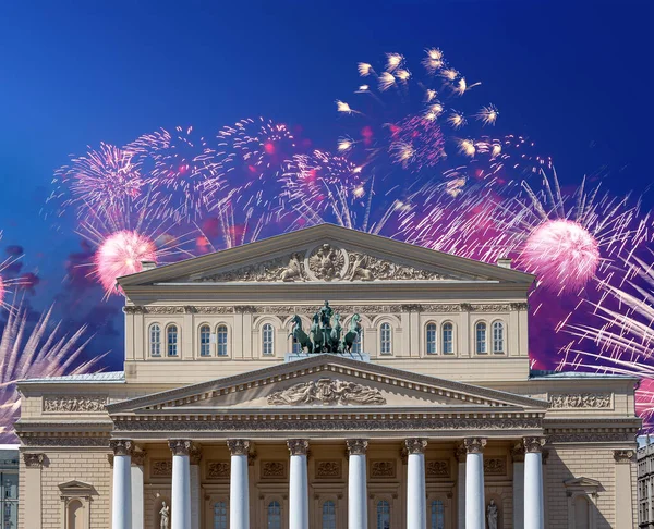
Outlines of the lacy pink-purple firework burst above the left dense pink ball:
{"label": "lacy pink-purple firework burst above the left dense pink ball", "polygon": [[126,209],[138,198],[144,185],[134,153],[101,143],[71,163],[58,169],[49,201],[59,202],[60,214],[72,207],[78,217],[100,208]]}

